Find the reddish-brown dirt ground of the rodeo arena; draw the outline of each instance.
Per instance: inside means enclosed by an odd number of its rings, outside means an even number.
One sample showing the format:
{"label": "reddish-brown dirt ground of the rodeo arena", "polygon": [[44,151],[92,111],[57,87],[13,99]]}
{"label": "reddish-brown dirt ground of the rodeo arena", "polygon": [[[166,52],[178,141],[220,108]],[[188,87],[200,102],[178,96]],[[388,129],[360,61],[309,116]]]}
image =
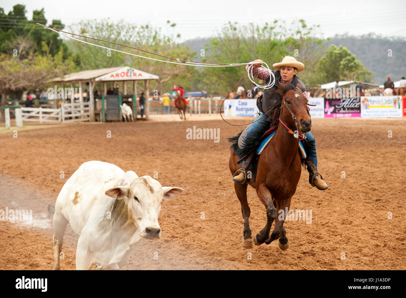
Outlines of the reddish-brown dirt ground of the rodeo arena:
{"label": "reddish-brown dirt ground of the rodeo arena", "polygon": [[[220,142],[187,140],[193,125],[220,128]],[[313,119],[319,170],[329,189],[312,188],[302,171],[290,208],[311,209],[312,222],[285,222],[285,251],[277,241],[241,246],[243,220],[228,169],[227,137],[242,128],[220,120],[138,121],[48,125],[22,130],[17,138],[2,133],[0,209],[32,209],[34,220],[0,222],[0,269],[53,268],[48,204],[80,164],[101,160],[140,176],[158,171],[162,186],[185,190],[162,202],[162,237],[141,243],[123,269],[405,270],[405,125],[406,119]],[[252,188],[248,203],[256,235],[266,213]],[[62,270],[75,269],[77,240],[68,225]]]}

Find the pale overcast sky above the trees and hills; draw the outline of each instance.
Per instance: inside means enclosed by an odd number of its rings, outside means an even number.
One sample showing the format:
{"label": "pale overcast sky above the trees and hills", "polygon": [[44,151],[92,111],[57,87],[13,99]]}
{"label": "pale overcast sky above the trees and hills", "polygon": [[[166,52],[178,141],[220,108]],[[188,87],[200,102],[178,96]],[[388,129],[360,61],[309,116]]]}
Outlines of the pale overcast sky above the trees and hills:
{"label": "pale overcast sky above the trees and hills", "polygon": [[113,21],[124,19],[136,24],[165,27],[166,21],[170,20],[177,24],[174,32],[180,33],[181,41],[185,41],[214,36],[228,21],[263,24],[275,18],[288,23],[303,18],[309,26],[320,25],[318,33],[323,37],[370,32],[387,37],[406,37],[405,3],[405,0],[0,0],[0,7],[7,14],[15,4],[25,4],[28,19],[32,18],[33,10],[44,8],[48,22],[61,19],[66,26],[84,19],[110,17]]}

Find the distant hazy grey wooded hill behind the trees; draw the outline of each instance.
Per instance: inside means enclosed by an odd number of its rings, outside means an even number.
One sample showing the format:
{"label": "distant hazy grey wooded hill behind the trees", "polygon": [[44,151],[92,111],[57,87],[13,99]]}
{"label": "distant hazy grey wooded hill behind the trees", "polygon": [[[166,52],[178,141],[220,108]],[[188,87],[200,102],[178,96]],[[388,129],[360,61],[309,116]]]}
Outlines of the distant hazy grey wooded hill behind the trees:
{"label": "distant hazy grey wooded hill behind the trees", "polygon": [[[210,38],[197,38],[185,41],[184,45],[196,51],[195,59],[201,61],[201,49],[209,43]],[[374,72],[373,81],[376,84],[383,84],[388,76],[393,81],[400,80],[406,76],[406,39],[395,38],[388,39],[370,33],[362,36],[336,35],[325,41],[326,48],[330,45],[343,45],[363,65],[370,71]],[[392,50],[392,56],[388,56],[388,50]],[[205,51],[205,56],[209,56]]]}

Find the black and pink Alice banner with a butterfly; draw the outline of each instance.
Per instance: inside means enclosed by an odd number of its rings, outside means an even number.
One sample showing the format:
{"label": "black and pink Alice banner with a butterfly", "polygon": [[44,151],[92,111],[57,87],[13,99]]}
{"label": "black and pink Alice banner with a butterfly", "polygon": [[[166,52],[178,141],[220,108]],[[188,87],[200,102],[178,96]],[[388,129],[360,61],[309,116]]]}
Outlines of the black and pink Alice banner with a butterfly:
{"label": "black and pink Alice banner with a butterfly", "polygon": [[356,98],[324,99],[324,117],[361,117],[361,102]]}

